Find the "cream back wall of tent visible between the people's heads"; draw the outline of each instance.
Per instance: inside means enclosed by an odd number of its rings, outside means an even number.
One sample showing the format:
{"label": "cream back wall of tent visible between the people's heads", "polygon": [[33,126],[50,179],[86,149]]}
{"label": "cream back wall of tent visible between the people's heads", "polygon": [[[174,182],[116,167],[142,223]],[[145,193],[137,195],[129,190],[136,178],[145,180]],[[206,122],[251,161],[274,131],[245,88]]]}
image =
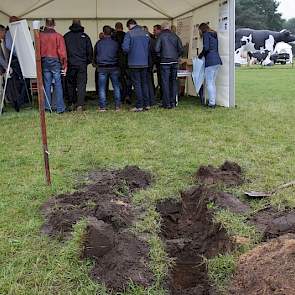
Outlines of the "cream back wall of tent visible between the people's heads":
{"label": "cream back wall of tent visible between the people's heads", "polygon": [[[126,22],[128,19],[100,19],[100,20],[89,20],[89,19],[81,19],[82,26],[85,27],[85,33],[89,35],[92,41],[92,45],[96,44],[98,40],[98,35],[102,32],[102,28],[104,25],[110,25],[112,27],[115,26],[115,23],[120,21],[123,23],[124,28],[126,30]],[[31,20],[32,21],[32,20]],[[31,21],[29,21],[31,26]],[[147,26],[150,31],[153,31],[153,26],[156,24],[161,24],[164,19],[155,19],[155,20],[147,20],[147,19],[137,19],[137,22],[140,25]],[[70,19],[57,19],[56,20],[56,30],[57,32],[64,35],[66,32],[69,31],[69,27],[72,24]],[[110,85],[111,86],[111,85]],[[88,83],[87,83],[87,91],[94,91],[95,90],[95,69],[92,65],[88,66]]]}

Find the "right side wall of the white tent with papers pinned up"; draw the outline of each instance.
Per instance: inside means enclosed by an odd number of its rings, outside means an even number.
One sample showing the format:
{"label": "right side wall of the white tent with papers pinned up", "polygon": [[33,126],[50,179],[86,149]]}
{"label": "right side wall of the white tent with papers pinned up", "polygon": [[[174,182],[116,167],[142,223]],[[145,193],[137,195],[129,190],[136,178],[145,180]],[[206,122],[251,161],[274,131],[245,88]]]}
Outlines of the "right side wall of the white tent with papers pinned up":
{"label": "right side wall of the white tent with papers pinned up", "polygon": [[[176,25],[179,19],[192,17],[191,42],[189,50],[189,58],[196,57],[202,51],[202,40],[198,38],[197,45],[193,46],[193,40],[196,36],[194,33],[194,26],[202,22],[209,22],[210,27],[218,31],[219,37],[219,53],[223,65],[218,73],[216,87],[217,87],[217,104],[225,107],[235,106],[235,74],[234,74],[234,57],[231,51],[234,52],[234,19],[230,18],[229,30],[219,31],[219,17],[220,17],[220,2],[213,1],[208,5],[204,5],[192,13],[183,15],[180,18],[174,19]],[[222,1],[224,2],[224,1]],[[229,0],[229,13],[234,13],[234,1]],[[234,15],[233,15],[234,18]],[[198,51],[196,50],[198,48]],[[187,92],[189,95],[196,96],[195,87],[192,79],[188,80]]]}

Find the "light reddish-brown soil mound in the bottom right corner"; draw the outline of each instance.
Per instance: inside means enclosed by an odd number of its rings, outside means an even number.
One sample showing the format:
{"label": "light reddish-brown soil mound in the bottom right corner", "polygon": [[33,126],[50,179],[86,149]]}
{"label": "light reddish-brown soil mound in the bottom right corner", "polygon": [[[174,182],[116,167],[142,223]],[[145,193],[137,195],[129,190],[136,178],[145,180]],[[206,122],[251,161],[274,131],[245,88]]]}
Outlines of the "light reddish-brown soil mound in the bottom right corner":
{"label": "light reddish-brown soil mound in the bottom right corner", "polygon": [[294,295],[295,235],[256,247],[240,258],[230,295]]}

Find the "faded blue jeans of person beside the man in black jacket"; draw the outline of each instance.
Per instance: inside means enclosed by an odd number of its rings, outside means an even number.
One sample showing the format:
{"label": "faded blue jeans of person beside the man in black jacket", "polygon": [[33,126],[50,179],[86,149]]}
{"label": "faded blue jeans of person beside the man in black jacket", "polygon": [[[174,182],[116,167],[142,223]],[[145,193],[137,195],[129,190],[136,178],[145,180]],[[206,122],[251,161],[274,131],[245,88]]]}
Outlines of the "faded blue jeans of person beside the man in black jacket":
{"label": "faded blue jeans of person beside the man in black jacket", "polygon": [[106,95],[106,86],[109,78],[112,81],[114,88],[114,98],[116,108],[119,108],[121,105],[121,85],[120,85],[120,71],[106,71],[98,73],[98,92],[99,92],[99,107],[101,109],[106,108],[107,104],[107,95]]}

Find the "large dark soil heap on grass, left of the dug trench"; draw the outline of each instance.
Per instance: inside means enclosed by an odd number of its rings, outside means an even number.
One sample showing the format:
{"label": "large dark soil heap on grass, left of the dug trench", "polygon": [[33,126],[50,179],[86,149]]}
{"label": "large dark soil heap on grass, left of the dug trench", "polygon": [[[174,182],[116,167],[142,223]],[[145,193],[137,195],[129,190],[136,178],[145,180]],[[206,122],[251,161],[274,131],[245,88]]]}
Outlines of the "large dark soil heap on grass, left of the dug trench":
{"label": "large dark soil heap on grass, left of the dug trench", "polygon": [[119,171],[96,171],[91,184],[71,194],[50,199],[42,207],[42,231],[61,239],[70,237],[82,218],[88,220],[82,258],[92,258],[92,276],[108,289],[122,291],[132,281],[149,286],[148,244],[129,230],[139,213],[131,205],[133,192],[150,185],[152,177],[138,167]]}

